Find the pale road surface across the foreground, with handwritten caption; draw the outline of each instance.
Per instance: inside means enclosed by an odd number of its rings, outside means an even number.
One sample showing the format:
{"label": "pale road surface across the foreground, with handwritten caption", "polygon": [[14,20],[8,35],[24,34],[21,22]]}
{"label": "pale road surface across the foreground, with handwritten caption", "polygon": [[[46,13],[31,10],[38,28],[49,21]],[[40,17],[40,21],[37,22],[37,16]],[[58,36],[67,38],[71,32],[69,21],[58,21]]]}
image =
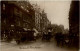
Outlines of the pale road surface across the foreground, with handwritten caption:
{"label": "pale road surface across the foreground, with handwritten caption", "polygon": [[15,41],[11,43],[2,42],[0,44],[1,51],[77,51],[76,49],[68,49],[57,47],[54,42],[28,42],[17,45]]}

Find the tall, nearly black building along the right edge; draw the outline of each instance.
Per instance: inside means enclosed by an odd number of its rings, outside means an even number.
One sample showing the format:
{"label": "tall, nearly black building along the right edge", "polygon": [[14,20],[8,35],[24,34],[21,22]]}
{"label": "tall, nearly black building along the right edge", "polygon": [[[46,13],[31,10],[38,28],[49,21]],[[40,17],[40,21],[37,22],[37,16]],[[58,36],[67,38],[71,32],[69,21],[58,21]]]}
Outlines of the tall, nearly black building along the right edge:
{"label": "tall, nearly black building along the right edge", "polygon": [[69,12],[70,43],[79,46],[79,1],[72,1]]}

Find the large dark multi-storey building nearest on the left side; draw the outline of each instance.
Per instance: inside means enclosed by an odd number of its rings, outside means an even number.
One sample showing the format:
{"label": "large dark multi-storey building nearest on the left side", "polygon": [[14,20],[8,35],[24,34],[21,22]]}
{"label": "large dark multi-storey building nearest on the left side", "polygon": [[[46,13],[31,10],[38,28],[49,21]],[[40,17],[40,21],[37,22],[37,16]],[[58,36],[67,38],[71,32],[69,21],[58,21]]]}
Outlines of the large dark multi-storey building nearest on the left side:
{"label": "large dark multi-storey building nearest on the left side", "polygon": [[[26,2],[27,3],[27,2]],[[1,33],[17,28],[32,29],[34,27],[34,9],[28,4],[26,9],[17,1],[1,2]]]}

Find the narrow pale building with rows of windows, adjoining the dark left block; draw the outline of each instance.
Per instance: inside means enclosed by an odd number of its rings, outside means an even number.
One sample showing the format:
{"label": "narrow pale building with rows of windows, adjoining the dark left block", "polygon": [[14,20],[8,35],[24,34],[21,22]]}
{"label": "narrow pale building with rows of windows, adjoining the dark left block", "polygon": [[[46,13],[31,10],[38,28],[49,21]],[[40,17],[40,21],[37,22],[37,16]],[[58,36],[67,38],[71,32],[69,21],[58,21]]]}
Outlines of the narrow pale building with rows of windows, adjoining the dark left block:
{"label": "narrow pale building with rows of windows, adjoining the dark left block", "polygon": [[39,8],[39,6],[36,4],[34,5],[34,9],[35,9],[35,28],[40,31],[40,19],[41,19],[41,10]]}

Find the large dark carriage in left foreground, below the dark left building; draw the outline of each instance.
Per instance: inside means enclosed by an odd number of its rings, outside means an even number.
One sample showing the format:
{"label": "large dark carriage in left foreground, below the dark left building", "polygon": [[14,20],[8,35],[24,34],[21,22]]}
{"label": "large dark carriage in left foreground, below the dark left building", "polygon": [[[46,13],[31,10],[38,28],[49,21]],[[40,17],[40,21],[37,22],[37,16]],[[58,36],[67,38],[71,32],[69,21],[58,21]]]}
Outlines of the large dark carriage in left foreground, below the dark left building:
{"label": "large dark carriage in left foreground, below the dark left building", "polygon": [[16,40],[16,43],[19,44],[20,42],[25,42],[25,41],[33,41],[34,39],[34,31],[29,29],[29,30],[24,30],[24,29],[18,29],[16,31],[16,35],[14,37]]}

